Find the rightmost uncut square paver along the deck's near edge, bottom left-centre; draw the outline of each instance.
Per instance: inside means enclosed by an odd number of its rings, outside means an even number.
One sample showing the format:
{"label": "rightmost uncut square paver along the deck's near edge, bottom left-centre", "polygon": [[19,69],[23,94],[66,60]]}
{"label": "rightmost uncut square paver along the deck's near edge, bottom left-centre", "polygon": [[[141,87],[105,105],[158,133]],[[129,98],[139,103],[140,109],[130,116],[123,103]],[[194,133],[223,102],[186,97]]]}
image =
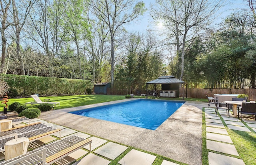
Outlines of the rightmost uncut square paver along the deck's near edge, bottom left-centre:
{"label": "rightmost uncut square paver along the deck's near edge, bottom left-centre", "polygon": [[98,153],[109,159],[116,159],[121,153],[123,153],[128,147],[113,142],[108,142],[102,147],[96,149],[94,153]]}

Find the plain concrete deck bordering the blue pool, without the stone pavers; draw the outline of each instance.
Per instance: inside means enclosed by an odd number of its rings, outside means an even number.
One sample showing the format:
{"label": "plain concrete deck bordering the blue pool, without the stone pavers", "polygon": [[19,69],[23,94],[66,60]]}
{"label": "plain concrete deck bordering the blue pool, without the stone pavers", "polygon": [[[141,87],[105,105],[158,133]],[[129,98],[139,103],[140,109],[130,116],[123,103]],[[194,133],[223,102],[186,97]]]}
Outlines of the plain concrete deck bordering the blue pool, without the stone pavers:
{"label": "plain concrete deck bordering the blue pool, without the stone pavers", "polygon": [[39,118],[190,165],[202,164],[202,108],[208,106],[206,102],[186,101],[156,130],[68,113],[124,101],[127,100],[42,112]]}

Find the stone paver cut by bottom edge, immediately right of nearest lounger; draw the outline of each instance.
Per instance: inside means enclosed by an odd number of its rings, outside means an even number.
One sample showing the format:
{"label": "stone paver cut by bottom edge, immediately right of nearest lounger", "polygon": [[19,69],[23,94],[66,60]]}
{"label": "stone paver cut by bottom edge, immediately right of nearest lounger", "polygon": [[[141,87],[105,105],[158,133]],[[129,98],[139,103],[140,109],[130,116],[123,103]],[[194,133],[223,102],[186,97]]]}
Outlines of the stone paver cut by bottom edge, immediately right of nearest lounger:
{"label": "stone paver cut by bottom edge, immediately right of nearest lounger", "polygon": [[111,161],[89,153],[81,159],[76,165],[108,165]]}

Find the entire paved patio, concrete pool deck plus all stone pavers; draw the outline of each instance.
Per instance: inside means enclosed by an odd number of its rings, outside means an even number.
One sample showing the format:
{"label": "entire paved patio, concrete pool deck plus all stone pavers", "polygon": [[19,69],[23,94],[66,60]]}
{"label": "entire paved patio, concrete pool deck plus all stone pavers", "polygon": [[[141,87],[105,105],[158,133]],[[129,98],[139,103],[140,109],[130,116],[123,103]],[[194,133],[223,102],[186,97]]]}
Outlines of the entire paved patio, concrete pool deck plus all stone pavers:
{"label": "entire paved patio, concrete pool deck plus all stone pavers", "polygon": [[[124,100],[116,102],[124,102]],[[112,103],[114,102],[101,103],[100,105]],[[139,151],[139,149],[190,165],[202,164],[203,107],[206,107],[204,114],[209,165],[244,165],[242,159],[236,158],[240,155],[226,129],[245,132],[256,131],[256,121],[244,120],[247,125],[245,126],[232,115],[227,116],[225,110],[218,110],[228,127],[225,128],[220,116],[214,114],[215,109],[207,108],[207,103],[203,102],[187,101],[155,131],[67,113],[71,110],[94,106],[97,105],[43,112],[40,119],[31,120],[31,123],[42,122],[48,126],[62,129],[62,138],[76,135],[92,139],[92,151],[90,153],[89,146],[86,146],[84,149],[79,149],[60,159],[56,162],[57,165],[68,165],[72,162],[75,162],[73,165],[108,165],[115,159],[121,165],[152,165],[156,155]],[[21,125],[24,124],[18,123],[14,127]],[[59,137],[59,134],[54,134],[54,136]],[[57,139],[52,136],[41,138],[30,142],[29,148],[36,148],[55,140]],[[131,149],[125,145],[138,149]],[[214,153],[215,151],[218,153]],[[82,159],[76,161],[79,158]],[[4,159],[4,153],[0,153],[0,159]],[[178,164],[163,160],[161,165]]]}

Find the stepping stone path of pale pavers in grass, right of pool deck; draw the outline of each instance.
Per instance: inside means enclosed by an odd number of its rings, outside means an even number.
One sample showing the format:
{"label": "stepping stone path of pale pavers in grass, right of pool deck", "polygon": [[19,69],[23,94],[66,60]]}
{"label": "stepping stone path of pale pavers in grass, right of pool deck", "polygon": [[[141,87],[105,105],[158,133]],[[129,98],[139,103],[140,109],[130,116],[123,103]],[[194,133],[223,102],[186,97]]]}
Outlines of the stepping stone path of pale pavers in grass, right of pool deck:
{"label": "stepping stone path of pale pavers in grass, right of pool deck", "polygon": [[[239,156],[236,151],[233,141],[228,136],[228,132],[225,129],[222,120],[215,114],[214,108],[205,108],[205,121],[206,121],[206,148],[212,151],[218,151],[223,154],[230,154]],[[222,116],[226,115],[226,110],[218,110],[218,113]],[[244,124],[234,118],[222,117],[227,126],[242,127]],[[230,124],[230,125],[228,125]],[[242,125],[243,124],[243,125]],[[229,127],[228,127],[229,128]],[[244,125],[243,130],[246,128]],[[248,128],[247,128],[248,129]],[[249,129],[248,129],[249,130]],[[209,152],[208,153],[209,165],[244,165],[242,159]]]}

